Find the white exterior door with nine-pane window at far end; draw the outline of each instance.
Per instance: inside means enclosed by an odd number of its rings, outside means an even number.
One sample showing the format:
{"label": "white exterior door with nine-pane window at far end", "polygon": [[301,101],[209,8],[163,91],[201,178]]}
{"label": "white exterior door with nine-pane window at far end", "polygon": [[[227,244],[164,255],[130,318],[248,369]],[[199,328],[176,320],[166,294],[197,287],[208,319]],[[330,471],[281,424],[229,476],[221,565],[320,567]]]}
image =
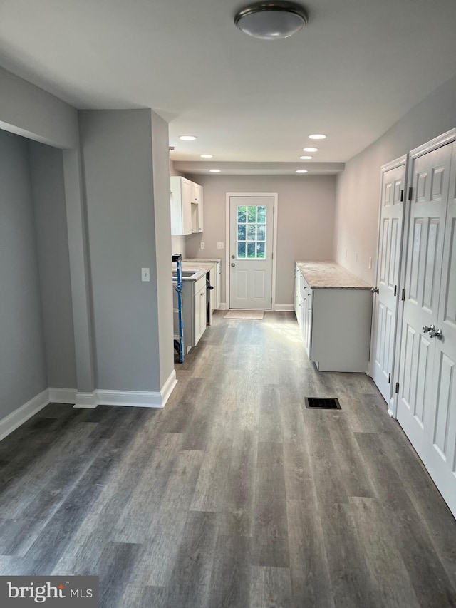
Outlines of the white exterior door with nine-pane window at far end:
{"label": "white exterior door with nine-pane window at far end", "polygon": [[273,196],[229,197],[229,308],[270,310]]}

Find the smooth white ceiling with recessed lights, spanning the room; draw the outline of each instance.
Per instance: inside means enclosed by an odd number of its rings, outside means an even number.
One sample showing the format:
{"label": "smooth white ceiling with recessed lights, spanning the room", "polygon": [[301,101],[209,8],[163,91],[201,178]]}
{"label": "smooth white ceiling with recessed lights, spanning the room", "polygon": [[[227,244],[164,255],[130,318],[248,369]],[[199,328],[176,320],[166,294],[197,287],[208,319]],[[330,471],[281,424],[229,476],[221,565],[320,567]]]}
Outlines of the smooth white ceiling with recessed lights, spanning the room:
{"label": "smooth white ceiling with recessed lights, spanning the room", "polygon": [[304,0],[278,41],[234,26],[246,4],[0,0],[0,65],[76,108],[154,109],[173,160],[214,154],[192,172],[292,172],[309,133],[328,135],[309,172],[343,163],[456,73],[455,0]]}

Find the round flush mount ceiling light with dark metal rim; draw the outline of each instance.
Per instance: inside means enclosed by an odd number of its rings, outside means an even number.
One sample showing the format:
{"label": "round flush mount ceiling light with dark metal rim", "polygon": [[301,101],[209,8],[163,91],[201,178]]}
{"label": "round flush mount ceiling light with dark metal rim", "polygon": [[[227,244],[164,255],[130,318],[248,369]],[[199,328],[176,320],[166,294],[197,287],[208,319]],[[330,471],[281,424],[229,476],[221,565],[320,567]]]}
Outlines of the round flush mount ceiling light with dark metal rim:
{"label": "round flush mount ceiling light with dark metal rim", "polygon": [[263,40],[288,38],[304,26],[309,17],[303,6],[286,0],[255,2],[234,16],[238,28]]}

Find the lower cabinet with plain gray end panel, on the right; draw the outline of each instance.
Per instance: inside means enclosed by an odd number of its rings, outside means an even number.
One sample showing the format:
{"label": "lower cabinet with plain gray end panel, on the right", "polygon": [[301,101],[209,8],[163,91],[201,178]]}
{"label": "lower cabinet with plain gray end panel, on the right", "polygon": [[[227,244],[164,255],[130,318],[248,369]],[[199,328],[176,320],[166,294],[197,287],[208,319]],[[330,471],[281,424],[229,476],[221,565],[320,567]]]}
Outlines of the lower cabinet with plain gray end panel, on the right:
{"label": "lower cabinet with plain gray end panel, on the right", "polygon": [[[295,267],[294,309],[307,356],[319,371],[366,372],[371,336],[371,289],[367,284],[359,288],[339,287],[336,264],[328,267],[331,279],[325,287],[312,286],[297,264]],[[321,272],[324,276],[323,262]],[[343,269],[341,277],[346,277]],[[358,279],[353,284],[358,284]]]}

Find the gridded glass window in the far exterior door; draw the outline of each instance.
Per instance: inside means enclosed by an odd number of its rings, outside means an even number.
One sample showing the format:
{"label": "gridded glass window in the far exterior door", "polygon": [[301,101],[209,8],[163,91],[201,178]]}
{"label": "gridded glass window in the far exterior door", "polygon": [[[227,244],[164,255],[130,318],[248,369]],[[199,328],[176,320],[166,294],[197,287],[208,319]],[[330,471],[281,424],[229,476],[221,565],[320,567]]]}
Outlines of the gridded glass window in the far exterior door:
{"label": "gridded glass window in the far exterior door", "polygon": [[238,259],[266,258],[266,207],[237,207],[236,250]]}

